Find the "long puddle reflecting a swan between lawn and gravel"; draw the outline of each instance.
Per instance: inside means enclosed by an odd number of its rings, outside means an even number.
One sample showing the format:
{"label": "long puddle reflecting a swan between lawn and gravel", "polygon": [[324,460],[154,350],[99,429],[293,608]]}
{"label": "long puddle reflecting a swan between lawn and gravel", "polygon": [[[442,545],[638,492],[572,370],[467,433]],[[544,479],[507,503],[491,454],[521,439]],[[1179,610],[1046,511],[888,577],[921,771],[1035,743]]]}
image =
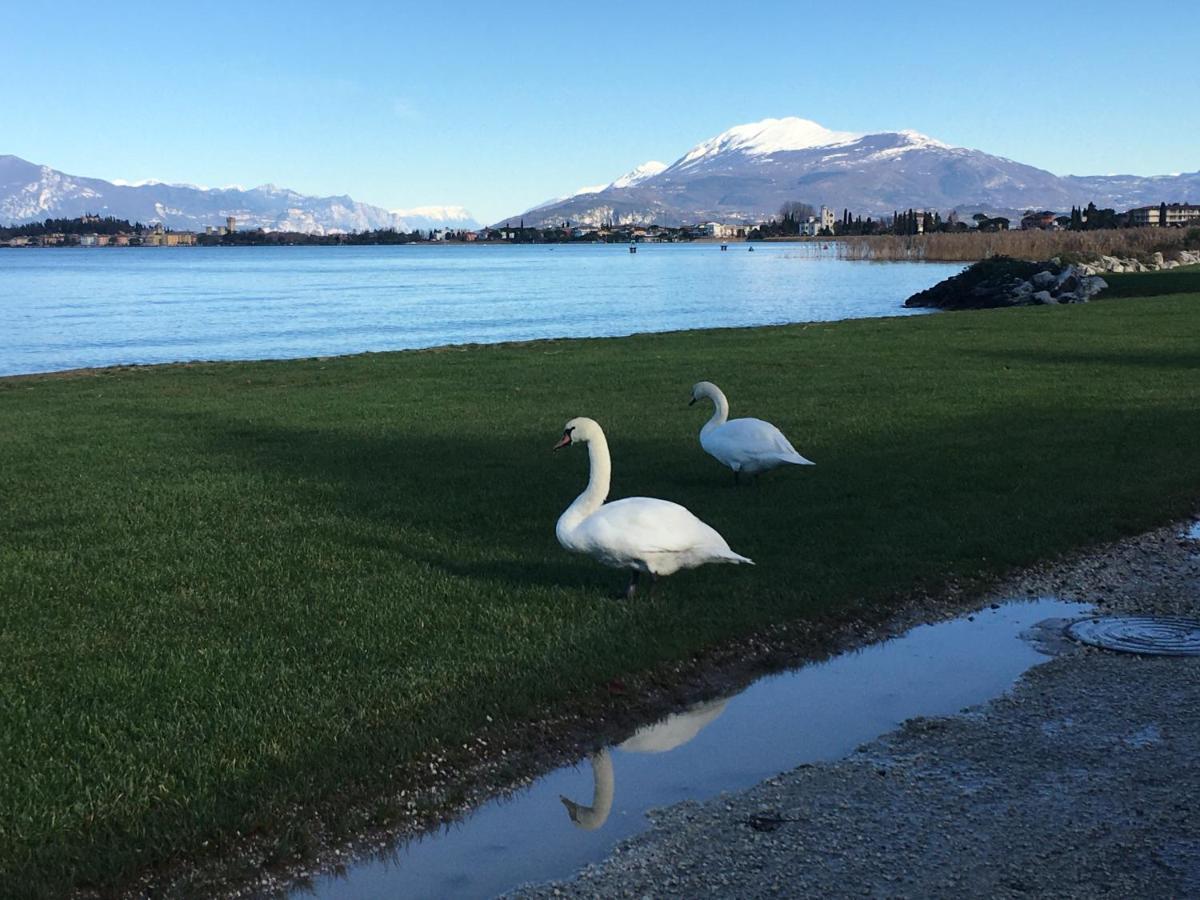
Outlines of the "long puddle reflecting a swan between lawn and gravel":
{"label": "long puddle reflecting a swan between lawn and gravel", "polygon": [[1045,659],[1022,638],[1092,607],[1006,604],[768,676],[740,694],[647,726],[578,766],[548,773],[463,822],[314,878],[294,896],[486,898],[565,878],[643,830],[646,810],[751,787],[805,762],[838,760],[914,715],[998,696]]}

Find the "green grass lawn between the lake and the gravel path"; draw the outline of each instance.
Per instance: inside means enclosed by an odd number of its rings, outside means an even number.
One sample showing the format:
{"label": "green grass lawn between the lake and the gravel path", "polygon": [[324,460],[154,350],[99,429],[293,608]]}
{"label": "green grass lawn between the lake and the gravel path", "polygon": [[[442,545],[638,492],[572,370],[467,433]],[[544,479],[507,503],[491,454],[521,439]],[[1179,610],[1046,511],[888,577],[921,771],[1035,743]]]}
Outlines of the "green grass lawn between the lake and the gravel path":
{"label": "green grass lawn between the lake and the gravel path", "polygon": [[[0,379],[0,883],[110,886],[485,716],[1184,516],[1200,275],[1110,282],[1176,295]],[[702,378],[817,466],[734,488]],[[611,599],[554,540],[575,415],[612,497],[757,566]]]}

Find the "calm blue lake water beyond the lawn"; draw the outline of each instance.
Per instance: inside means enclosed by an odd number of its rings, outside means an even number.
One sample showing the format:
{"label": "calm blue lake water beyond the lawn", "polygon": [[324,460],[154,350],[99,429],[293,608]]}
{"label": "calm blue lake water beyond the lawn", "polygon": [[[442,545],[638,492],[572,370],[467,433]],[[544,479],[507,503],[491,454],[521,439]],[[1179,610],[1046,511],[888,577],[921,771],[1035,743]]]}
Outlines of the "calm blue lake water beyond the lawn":
{"label": "calm blue lake water beyond the lawn", "polygon": [[0,250],[0,374],[899,316],[960,269],[815,244]]}

